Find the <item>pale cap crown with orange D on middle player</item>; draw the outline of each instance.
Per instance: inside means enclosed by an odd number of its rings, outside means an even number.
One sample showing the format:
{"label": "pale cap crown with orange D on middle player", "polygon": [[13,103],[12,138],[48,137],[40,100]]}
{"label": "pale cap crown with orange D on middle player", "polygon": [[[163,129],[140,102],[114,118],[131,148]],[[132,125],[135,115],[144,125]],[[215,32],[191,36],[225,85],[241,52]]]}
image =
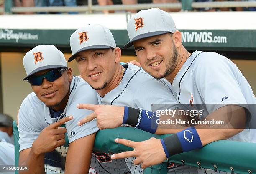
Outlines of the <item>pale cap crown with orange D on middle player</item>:
{"label": "pale cap crown with orange D on middle player", "polygon": [[[75,31],[70,38],[72,54],[84,47],[105,45],[113,47],[113,38],[108,38],[107,30],[101,25],[86,25]],[[115,42],[115,41],[114,41]]]}

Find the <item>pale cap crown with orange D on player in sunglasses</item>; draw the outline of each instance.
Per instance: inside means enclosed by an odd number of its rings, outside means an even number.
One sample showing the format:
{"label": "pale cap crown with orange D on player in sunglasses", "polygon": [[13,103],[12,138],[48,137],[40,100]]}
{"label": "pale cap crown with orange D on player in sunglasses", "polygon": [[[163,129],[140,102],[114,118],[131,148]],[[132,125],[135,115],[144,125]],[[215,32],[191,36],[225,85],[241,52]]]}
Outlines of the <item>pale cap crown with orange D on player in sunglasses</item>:
{"label": "pale cap crown with orange D on player in sunglasses", "polygon": [[33,70],[39,67],[44,67],[48,65],[60,65],[67,66],[67,62],[63,54],[52,47],[51,45],[37,46],[30,50],[23,59],[23,65],[25,67],[27,75],[29,75]]}

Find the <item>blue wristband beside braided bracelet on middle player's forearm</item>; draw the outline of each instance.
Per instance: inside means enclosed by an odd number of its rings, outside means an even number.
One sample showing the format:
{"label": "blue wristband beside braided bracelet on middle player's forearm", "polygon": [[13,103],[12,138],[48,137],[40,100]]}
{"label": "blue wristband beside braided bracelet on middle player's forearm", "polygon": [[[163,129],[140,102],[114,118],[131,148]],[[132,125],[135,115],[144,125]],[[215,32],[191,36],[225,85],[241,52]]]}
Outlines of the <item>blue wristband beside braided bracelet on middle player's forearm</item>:
{"label": "blue wristband beside braided bracelet on middle player's forearm", "polygon": [[154,134],[158,126],[158,124],[156,124],[157,119],[158,117],[154,117],[154,112],[142,110],[141,122],[138,129]]}

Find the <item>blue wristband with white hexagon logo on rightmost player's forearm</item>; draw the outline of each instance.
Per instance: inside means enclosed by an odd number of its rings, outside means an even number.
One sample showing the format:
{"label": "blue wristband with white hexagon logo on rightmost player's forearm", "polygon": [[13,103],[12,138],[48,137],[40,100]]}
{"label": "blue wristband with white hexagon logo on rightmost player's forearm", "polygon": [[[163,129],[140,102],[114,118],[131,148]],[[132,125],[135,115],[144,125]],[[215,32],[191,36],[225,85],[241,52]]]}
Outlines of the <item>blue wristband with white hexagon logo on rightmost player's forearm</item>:
{"label": "blue wristband with white hexagon logo on rightmost player's forearm", "polygon": [[202,142],[195,127],[189,127],[177,133],[183,152],[202,148]]}

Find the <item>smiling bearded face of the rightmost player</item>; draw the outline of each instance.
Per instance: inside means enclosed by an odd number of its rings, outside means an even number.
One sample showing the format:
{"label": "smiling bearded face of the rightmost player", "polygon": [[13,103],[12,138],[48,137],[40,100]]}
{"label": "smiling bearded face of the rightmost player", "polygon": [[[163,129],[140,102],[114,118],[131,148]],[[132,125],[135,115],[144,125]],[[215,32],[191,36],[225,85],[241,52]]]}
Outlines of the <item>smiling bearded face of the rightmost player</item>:
{"label": "smiling bearded face of the rightmost player", "polygon": [[166,33],[133,42],[142,68],[156,79],[164,78],[177,66],[177,47]]}

